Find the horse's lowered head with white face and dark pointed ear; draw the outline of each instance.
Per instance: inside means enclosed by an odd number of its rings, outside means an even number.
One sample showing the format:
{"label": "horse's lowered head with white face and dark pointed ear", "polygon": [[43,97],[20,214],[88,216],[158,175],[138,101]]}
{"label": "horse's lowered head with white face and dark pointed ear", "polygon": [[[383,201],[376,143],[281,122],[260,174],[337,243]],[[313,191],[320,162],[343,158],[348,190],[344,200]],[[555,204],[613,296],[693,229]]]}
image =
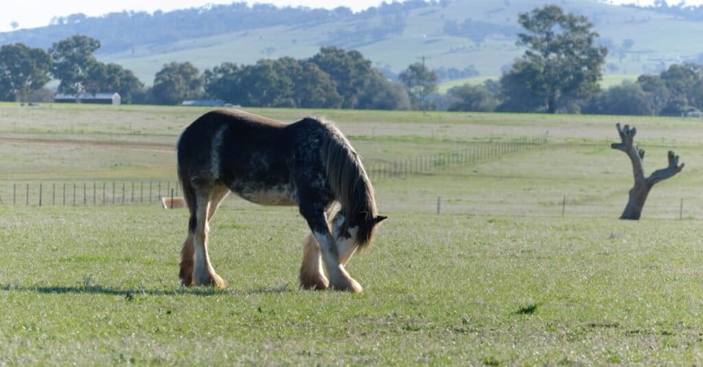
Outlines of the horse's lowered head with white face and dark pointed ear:
{"label": "horse's lowered head with white face and dark pointed ear", "polygon": [[362,213],[357,215],[356,218],[348,224],[347,229],[344,230],[344,214],[342,214],[342,210],[337,212],[332,220],[331,226],[332,236],[335,238],[335,243],[337,244],[337,255],[340,264],[347,264],[361,243],[368,244],[370,242],[370,238],[359,238],[359,234],[366,233],[366,236],[373,236],[374,227],[386,218],[387,217],[382,215],[370,217]]}

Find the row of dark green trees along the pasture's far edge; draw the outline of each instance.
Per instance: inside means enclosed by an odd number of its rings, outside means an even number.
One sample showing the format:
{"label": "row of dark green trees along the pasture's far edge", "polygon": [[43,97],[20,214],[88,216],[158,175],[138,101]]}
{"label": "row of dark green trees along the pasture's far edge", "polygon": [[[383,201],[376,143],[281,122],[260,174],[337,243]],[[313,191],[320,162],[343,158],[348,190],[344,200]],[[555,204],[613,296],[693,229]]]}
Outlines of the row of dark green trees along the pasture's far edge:
{"label": "row of dark green trees along the pasture's far edge", "polygon": [[446,109],[504,112],[586,112],[619,115],[681,115],[703,110],[703,66],[671,65],[660,75],[642,75],[600,89],[607,48],[593,24],[555,5],[521,13],[526,51],[498,81],[457,86],[436,93],[438,75],[413,63],[393,81],[359,51],[322,47],[311,58],[222,63],[200,73],[191,63],[169,63],[146,88],[131,70],[93,56],[100,41],[75,35],[48,50],[24,44],[0,47],[0,99],[46,98],[42,89],[58,79],[65,94],[117,91],[124,103],[174,105],[211,98],[251,107]]}

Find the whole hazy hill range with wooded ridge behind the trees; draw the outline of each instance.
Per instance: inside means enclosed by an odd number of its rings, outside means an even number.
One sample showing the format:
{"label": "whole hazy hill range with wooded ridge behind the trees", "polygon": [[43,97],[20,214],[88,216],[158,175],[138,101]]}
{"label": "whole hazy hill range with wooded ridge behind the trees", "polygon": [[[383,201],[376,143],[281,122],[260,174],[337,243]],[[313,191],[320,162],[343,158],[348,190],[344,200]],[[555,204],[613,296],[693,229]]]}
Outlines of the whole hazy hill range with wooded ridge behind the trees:
{"label": "whole hazy hill range with wooded ridge behind the trees", "polygon": [[[606,72],[638,75],[670,63],[703,61],[703,22],[680,12],[613,6],[597,0],[555,0],[586,15],[610,50]],[[410,0],[361,13],[276,8],[233,3],[167,13],[82,14],[56,18],[52,25],[0,33],[0,44],[22,42],[49,48],[72,34],[101,40],[97,56],[133,70],[146,84],[171,61],[211,68],[225,61],[307,58],[321,46],[357,49],[387,74],[424,58],[444,77],[496,76],[523,50],[515,45],[517,15],[542,6],[536,0]]]}

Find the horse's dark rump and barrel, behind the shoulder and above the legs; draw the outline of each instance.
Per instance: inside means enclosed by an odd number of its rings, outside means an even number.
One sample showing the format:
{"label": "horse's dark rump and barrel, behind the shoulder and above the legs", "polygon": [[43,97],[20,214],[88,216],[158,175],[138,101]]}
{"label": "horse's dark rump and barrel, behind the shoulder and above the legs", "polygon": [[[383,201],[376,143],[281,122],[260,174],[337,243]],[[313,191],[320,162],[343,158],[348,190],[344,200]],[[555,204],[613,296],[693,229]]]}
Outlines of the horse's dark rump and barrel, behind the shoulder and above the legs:
{"label": "horse's dark rump and barrel, behind the shoulder and above the legs", "polygon": [[212,111],[181,134],[178,165],[188,176],[219,181],[252,202],[295,204],[291,125],[242,111]]}

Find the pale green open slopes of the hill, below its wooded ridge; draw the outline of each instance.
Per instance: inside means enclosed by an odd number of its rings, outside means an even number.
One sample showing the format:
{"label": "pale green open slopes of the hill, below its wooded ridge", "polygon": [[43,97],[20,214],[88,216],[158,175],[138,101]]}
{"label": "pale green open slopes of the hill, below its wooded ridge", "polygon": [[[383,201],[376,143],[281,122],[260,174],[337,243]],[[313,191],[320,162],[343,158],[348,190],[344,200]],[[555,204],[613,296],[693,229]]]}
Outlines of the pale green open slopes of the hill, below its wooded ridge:
{"label": "pale green open slopes of the hill, below its wooded ridge", "polygon": [[[515,45],[515,37],[494,34],[477,43],[466,37],[445,34],[443,25],[444,20],[461,22],[472,19],[515,27],[517,13],[541,4],[531,0],[509,3],[510,6],[505,6],[487,1],[459,0],[444,8],[427,6],[408,14],[407,27],[402,34],[341,46],[358,49],[376,66],[389,67],[394,72],[404,70],[425,56],[430,67],[463,69],[474,65],[480,75],[500,75],[501,67],[510,65],[514,58],[522,55],[522,49]],[[565,1],[560,5],[567,11],[586,15],[594,22],[602,41],[609,45],[607,63],[612,64],[614,73],[619,75],[656,72],[662,65],[697,58],[699,50],[703,49],[703,40],[695,36],[703,32],[703,23],[593,0]],[[331,32],[345,26],[354,25],[323,22],[309,27],[270,27],[158,47],[147,45],[134,55],[113,53],[103,54],[101,58],[122,63],[150,82],[155,71],[170,60],[191,60],[204,69],[224,61],[254,63],[260,58],[306,58],[325,44]],[[622,47],[626,39],[633,41],[629,49]]]}

